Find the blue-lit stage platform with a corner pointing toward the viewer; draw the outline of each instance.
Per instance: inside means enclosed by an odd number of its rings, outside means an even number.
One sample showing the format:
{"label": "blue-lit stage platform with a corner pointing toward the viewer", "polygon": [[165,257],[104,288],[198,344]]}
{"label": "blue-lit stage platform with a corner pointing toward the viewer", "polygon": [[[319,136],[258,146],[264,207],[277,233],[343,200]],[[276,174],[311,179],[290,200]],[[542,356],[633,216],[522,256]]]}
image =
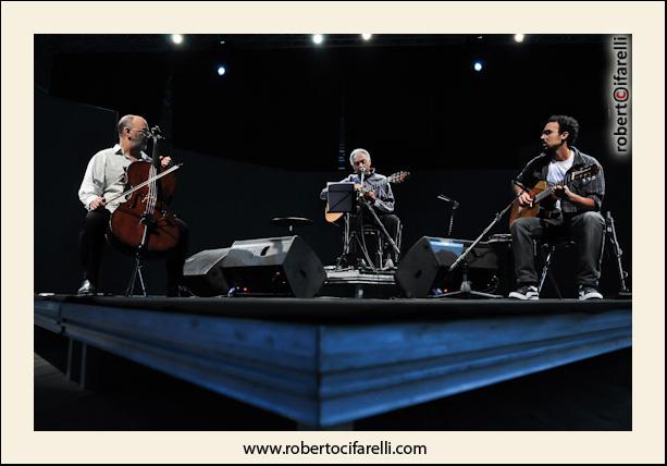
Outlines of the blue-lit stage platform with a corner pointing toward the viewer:
{"label": "blue-lit stage platform with a corner pointing toward the viewer", "polygon": [[91,383],[108,352],[297,421],[356,419],[631,346],[631,301],[35,296]]}

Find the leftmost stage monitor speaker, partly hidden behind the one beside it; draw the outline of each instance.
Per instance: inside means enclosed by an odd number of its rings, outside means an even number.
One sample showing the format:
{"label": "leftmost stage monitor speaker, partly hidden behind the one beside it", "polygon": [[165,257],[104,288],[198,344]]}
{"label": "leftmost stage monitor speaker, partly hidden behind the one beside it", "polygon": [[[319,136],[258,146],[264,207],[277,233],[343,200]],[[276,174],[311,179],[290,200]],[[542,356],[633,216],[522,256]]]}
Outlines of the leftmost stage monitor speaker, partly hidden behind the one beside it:
{"label": "leftmost stage monitor speaker, partly hidden behind the one beside it", "polygon": [[207,249],[185,260],[183,282],[197,296],[227,294],[230,286],[222,273],[222,261],[230,253],[228,247]]}

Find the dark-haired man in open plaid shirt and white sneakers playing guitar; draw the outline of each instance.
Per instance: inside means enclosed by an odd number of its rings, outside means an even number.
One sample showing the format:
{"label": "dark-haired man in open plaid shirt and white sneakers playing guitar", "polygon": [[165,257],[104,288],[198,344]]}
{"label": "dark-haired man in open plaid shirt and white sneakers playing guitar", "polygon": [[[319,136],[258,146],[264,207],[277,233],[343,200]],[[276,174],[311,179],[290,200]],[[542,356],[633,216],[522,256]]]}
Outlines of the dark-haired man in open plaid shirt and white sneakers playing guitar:
{"label": "dark-haired man in open plaid shirt and white sneakers playing guitar", "polygon": [[602,298],[597,286],[605,180],[597,160],[573,147],[578,133],[579,123],[573,118],[551,116],[542,131],[544,151],[515,181],[519,197],[510,214],[510,230],[517,291],[509,297],[539,298],[533,240],[570,237],[579,246],[579,298]]}

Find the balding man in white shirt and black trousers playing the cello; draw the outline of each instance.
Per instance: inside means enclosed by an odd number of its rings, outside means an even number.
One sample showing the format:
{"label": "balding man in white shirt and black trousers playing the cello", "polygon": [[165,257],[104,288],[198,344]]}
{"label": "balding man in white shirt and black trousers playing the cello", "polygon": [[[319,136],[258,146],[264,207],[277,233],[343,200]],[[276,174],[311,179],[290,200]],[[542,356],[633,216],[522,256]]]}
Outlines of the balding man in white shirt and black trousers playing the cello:
{"label": "balding man in white shirt and black trousers playing the cello", "polygon": [[[150,131],[146,119],[127,114],[116,124],[119,142],[113,147],[97,152],[86,169],[78,189],[78,198],[88,210],[79,232],[79,257],[84,280],[78,294],[94,294],[99,290],[99,269],[104,249],[104,233],[109,219],[122,199],[107,203],[123,193],[127,167],[136,161],[150,162],[145,152]],[[162,168],[171,164],[170,157],[160,157]],[[180,240],[166,257],[166,295],[178,296],[183,278],[183,263],[187,253],[188,228],[175,219],[181,232]]]}

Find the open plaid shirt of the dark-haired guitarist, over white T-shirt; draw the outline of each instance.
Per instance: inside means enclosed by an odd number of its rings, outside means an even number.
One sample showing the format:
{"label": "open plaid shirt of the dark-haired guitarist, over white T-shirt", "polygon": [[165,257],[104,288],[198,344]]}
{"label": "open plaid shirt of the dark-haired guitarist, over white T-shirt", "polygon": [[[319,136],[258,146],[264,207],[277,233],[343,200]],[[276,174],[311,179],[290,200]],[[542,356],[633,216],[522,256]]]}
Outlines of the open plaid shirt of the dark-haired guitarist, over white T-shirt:
{"label": "open plaid shirt of the dark-haired guitarist, over white T-shirt", "polygon": [[[576,147],[570,147],[570,149],[575,154],[575,162],[572,163],[572,167],[567,171],[567,173],[581,170],[582,168],[591,165],[593,163],[596,164],[600,169],[600,172],[593,180],[577,180],[568,184],[568,187],[572,193],[593,199],[595,201],[595,207],[589,208],[579,204],[571,203],[567,199],[560,199],[560,209],[566,214],[577,214],[585,212],[586,210],[600,211],[602,208],[602,200],[605,196],[605,175],[602,170],[602,165],[593,157],[582,154]],[[540,154],[538,157],[528,162],[521,173],[519,173],[519,175],[517,176],[517,180],[529,188],[533,187],[535,184],[538,184],[538,182],[546,180],[546,175],[548,173],[548,163],[551,162],[551,156],[544,152]],[[549,209],[554,206],[553,200],[547,199],[540,204],[541,208],[544,209]]]}

